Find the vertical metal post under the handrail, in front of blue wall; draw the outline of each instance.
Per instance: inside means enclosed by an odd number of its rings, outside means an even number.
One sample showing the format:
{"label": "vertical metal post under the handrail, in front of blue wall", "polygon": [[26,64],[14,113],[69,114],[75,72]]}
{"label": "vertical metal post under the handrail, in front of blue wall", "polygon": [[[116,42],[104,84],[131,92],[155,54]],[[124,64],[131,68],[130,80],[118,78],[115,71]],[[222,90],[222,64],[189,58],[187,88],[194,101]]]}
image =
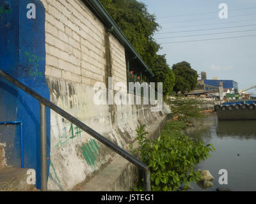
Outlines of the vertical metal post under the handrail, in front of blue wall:
{"label": "vertical metal post under the handrail, in front of blue wall", "polygon": [[47,191],[46,106],[40,103],[41,191]]}

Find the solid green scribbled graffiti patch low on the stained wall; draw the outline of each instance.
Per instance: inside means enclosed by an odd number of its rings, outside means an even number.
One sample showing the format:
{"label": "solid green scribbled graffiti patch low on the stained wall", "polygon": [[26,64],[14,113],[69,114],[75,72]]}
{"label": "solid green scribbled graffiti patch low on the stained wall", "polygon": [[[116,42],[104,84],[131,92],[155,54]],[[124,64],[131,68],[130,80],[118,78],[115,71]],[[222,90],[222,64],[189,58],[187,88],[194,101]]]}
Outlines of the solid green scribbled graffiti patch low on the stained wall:
{"label": "solid green scribbled graffiti patch low on the stained wall", "polygon": [[97,156],[99,154],[99,145],[94,139],[91,139],[89,142],[85,143],[82,147],[82,153],[84,156],[85,161],[90,166],[95,166],[95,161],[97,159]]}

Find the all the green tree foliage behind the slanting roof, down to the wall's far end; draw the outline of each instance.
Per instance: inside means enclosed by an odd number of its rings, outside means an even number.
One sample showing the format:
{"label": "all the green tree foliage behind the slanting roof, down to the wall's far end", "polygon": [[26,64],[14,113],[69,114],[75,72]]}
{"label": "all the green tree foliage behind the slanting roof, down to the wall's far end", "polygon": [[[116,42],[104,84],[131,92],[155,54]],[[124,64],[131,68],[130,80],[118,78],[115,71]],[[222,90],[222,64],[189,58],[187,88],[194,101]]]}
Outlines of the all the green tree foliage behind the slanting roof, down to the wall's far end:
{"label": "all the green tree foliage behind the slanting roof, down to the wall's far end", "polygon": [[165,55],[157,54],[160,45],[153,39],[153,35],[158,31],[159,24],[155,15],[148,13],[145,4],[136,0],[100,0],[100,3],[156,75],[150,82],[163,82],[163,94],[170,94],[175,77]]}

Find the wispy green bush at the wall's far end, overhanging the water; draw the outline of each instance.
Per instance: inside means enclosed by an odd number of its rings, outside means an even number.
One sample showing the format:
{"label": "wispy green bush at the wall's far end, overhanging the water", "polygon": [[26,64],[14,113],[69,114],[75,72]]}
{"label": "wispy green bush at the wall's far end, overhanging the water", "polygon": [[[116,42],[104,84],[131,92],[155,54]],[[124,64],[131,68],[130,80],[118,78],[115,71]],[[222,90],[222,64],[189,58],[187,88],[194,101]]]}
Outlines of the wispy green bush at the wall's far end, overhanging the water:
{"label": "wispy green bush at the wall's far end, overhanging the water", "polygon": [[203,117],[199,108],[203,103],[201,99],[176,96],[175,99],[168,99],[166,103],[170,106],[172,115],[177,117],[177,120],[190,122],[189,119]]}

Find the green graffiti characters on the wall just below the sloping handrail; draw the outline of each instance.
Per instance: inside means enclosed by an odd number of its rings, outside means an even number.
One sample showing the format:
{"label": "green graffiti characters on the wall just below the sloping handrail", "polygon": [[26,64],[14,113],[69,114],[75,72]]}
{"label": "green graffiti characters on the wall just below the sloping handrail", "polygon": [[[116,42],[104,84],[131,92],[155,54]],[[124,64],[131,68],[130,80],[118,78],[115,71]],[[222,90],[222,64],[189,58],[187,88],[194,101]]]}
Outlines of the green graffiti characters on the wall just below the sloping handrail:
{"label": "green graffiti characters on the wall just below the sloping handrail", "polygon": [[74,126],[74,124],[70,124],[70,128],[67,132],[66,128],[63,128],[63,133],[59,135],[59,142],[55,145],[55,147],[61,147],[65,143],[68,142],[68,140],[72,140],[74,138],[81,138],[81,133],[83,130],[78,128],[77,126]]}

